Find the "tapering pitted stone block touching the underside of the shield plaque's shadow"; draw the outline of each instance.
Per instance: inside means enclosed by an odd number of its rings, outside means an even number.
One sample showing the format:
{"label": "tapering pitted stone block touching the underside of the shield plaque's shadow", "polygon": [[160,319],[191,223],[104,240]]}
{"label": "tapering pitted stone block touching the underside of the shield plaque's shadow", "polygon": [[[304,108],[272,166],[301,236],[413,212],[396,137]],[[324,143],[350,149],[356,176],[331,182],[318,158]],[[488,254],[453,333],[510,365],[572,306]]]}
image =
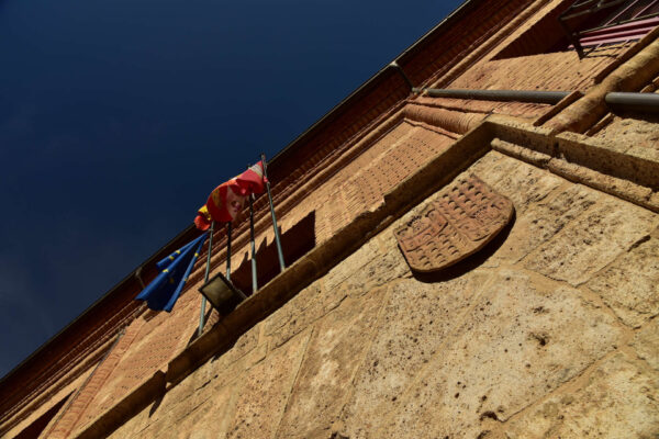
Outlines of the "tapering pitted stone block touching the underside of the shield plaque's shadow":
{"label": "tapering pitted stone block touching the underside of the shield plaque's shadow", "polygon": [[355,378],[342,418],[350,438],[367,437],[384,420],[418,371],[436,354],[487,280],[487,272],[448,282],[405,280],[391,286],[376,338]]}

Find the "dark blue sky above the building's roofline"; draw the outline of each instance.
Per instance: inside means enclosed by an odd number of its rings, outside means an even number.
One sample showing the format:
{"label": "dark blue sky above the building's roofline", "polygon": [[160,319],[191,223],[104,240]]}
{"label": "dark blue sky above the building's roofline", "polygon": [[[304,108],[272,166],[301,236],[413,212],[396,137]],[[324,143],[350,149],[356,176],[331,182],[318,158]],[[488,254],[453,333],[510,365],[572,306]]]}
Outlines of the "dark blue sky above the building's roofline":
{"label": "dark blue sky above the building's roofline", "polygon": [[0,0],[0,376],[458,3]]}

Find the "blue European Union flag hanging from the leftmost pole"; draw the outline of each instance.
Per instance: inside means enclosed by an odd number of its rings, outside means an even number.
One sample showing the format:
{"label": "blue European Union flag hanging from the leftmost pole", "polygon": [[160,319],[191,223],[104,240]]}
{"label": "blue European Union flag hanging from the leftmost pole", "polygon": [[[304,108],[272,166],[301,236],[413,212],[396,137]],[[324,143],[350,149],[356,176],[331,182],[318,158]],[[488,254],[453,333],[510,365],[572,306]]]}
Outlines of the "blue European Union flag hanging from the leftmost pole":
{"label": "blue European Union flag hanging from the leftmost pole", "polygon": [[205,238],[206,234],[158,261],[156,267],[160,272],[135,300],[146,301],[150,309],[171,312],[186,281],[188,281]]}

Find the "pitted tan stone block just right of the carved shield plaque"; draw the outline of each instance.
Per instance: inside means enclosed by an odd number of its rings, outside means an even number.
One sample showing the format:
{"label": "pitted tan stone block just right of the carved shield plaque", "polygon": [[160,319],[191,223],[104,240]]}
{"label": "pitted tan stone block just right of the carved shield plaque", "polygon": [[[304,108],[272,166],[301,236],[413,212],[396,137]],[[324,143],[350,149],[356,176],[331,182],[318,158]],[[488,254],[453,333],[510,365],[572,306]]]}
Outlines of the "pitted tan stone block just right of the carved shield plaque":
{"label": "pitted tan stone block just right of the carved shield plaque", "polygon": [[540,247],[526,267],[582,284],[648,236],[656,222],[651,212],[606,196]]}

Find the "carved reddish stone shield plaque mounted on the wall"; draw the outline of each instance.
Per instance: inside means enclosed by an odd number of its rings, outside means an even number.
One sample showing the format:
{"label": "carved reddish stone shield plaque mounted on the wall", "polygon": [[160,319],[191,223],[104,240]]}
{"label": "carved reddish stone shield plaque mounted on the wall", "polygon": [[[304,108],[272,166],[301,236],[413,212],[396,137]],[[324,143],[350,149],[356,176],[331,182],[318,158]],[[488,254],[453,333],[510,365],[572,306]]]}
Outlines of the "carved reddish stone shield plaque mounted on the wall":
{"label": "carved reddish stone shield plaque mounted on the wall", "polygon": [[513,211],[509,199],[469,176],[443,190],[394,234],[412,270],[437,271],[483,248],[509,224]]}

